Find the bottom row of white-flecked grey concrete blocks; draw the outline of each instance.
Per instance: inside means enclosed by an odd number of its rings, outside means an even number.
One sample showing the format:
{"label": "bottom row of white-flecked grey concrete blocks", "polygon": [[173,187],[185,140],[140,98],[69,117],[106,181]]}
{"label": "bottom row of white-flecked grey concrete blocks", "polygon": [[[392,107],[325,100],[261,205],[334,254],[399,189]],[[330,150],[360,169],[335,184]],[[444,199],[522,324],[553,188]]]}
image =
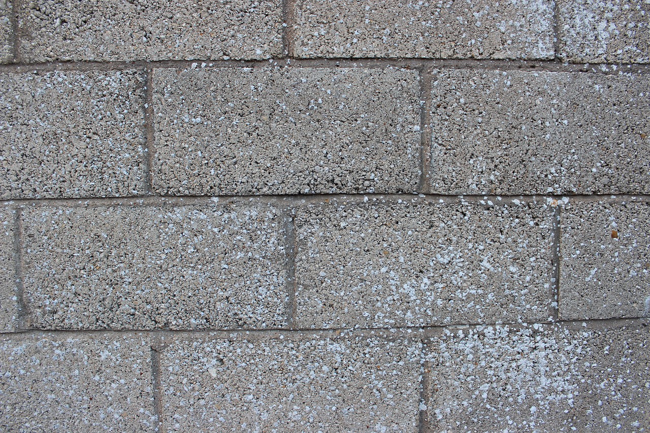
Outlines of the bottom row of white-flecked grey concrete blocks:
{"label": "bottom row of white-flecked grey concrete blocks", "polygon": [[0,426],[644,432],[647,326],[5,335]]}

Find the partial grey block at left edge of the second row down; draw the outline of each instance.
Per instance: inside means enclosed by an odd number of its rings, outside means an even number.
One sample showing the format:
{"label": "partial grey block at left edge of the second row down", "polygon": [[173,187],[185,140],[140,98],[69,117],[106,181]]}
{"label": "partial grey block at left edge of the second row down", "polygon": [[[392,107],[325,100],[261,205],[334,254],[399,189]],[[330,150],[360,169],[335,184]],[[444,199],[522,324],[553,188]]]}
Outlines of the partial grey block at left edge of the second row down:
{"label": "partial grey block at left edge of the second row down", "polygon": [[0,198],[146,194],[133,70],[0,73]]}

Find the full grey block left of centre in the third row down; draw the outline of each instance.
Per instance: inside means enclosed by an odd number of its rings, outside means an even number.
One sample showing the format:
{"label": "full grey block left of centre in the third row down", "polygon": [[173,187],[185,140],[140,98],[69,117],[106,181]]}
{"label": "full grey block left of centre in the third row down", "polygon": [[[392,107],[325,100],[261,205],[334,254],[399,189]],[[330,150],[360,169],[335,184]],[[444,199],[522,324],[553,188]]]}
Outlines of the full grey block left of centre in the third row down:
{"label": "full grey block left of centre in the third row down", "polygon": [[277,207],[132,204],[23,209],[24,292],[35,328],[286,324]]}

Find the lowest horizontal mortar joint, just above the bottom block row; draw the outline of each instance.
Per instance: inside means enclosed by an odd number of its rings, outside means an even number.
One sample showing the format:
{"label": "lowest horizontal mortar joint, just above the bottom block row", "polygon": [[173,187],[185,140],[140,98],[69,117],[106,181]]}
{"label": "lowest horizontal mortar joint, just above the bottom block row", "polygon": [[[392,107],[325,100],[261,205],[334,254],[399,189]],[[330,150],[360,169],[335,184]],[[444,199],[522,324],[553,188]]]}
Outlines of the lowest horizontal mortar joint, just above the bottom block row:
{"label": "lowest horizontal mortar joint, just above the bottom block row", "polygon": [[[444,324],[444,325],[428,325],[428,326],[394,326],[394,327],[378,327],[378,328],[362,328],[362,327],[350,327],[350,328],[263,328],[263,329],[244,329],[244,328],[234,328],[234,329],[187,329],[187,330],[170,330],[170,329],[120,329],[120,330],[81,330],[81,329],[70,329],[70,330],[47,330],[47,329],[21,329],[16,332],[0,332],[0,337],[10,337],[12,335],[40,335],[40,334],[153,334],[153,335],[183,335],[183,334],[252,334],[252,335],[264,335],[264,334],[337,334],[341,332],[385,332],[387,334],[393,334],[393,332],[426,332],[428,331],[440,331],[440,330],[461,330],[461,329],[482,329],[486,327],[495,327],[495,326],[510,326],[514,328],[530,328],[534,325],[541,326],[573,326],[578,328],[586,329],[600,329],[606,328],[607,326],[625,326],[625,325],[641,325],[647,324],[650,322],[648,317],[620,317],[620,318],[610,318],[610,319],[583,319],[583,320],[559,320],[559,321],[539,321],[539,322],[491,322],[491,323],[474,323],[474,324]],[[586,324],[586,326],[584,326]],[[337,334],[338,335],[338,334]]]}

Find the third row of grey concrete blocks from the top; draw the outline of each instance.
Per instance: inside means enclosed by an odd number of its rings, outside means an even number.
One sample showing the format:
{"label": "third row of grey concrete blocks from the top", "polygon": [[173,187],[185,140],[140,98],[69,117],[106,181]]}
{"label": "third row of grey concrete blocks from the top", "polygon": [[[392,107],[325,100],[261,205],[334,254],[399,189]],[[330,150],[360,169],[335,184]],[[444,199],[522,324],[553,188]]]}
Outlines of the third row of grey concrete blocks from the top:
{"label": "third row of grey concrete blocks from the top", "polygon": [[320,200],[7,203],[3,328],[390,328],[650,315],[647,197]]}

